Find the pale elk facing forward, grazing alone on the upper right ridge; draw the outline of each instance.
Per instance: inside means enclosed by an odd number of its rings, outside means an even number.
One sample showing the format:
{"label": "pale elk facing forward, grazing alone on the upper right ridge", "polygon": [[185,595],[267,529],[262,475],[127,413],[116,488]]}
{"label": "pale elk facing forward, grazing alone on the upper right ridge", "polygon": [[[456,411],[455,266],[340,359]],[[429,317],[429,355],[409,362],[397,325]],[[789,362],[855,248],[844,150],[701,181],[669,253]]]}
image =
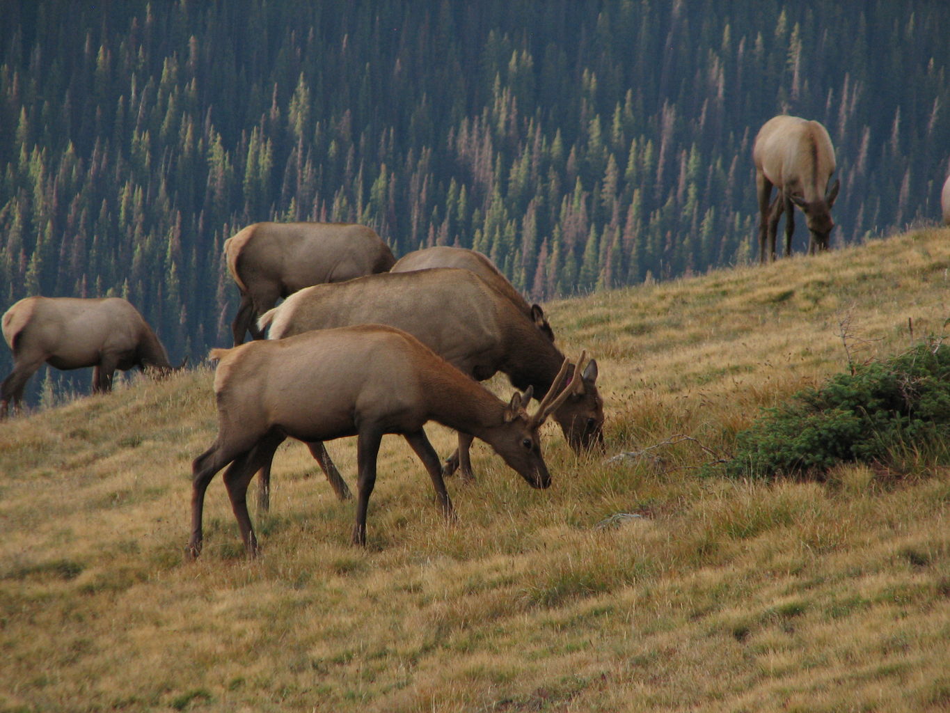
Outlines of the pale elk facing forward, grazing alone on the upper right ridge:
{"label": "pale elk facing forward, grazing alone on the upper right ridge", "polygon": [[[759,201],[759,260],[775,260],[775,241],[782,213],[785,222],[785,255],[791,255],[795,231],[793,205],[805,213],[808,226],[808,254],[827,250],[834,221],[831,206],[838,197],[840,183],[829,187],[834,173],[834,146],[825,126],[797,116],[776,116],[759,129],[752,146],[755,189]],[[769,204],[772,186],[778,188]]]}

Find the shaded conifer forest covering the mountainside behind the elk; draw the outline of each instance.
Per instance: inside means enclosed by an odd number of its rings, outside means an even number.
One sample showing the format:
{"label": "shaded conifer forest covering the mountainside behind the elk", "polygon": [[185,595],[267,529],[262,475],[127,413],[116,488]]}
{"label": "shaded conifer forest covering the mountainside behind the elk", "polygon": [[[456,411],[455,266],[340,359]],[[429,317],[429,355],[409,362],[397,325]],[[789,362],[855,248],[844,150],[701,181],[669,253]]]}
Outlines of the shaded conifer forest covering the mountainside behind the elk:
{"label": "shaded conifer forest covering the mountainside behind the elk", "polygon": [[941,2],[0,10],[3,309],[123,296],[173,360],[231,345],[221,245],[250,222],[472,247],[544,300],[757,260],[751,145],[775,114],[834,143],[832,248],[936,222],[950,172]]}

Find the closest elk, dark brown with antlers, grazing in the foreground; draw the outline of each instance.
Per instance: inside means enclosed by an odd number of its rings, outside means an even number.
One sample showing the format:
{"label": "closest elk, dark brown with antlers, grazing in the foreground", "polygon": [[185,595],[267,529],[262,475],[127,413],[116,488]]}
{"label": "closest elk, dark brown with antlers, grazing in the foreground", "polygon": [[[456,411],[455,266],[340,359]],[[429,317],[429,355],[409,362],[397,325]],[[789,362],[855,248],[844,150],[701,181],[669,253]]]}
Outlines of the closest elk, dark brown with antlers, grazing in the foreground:
{"label": "closest elk, dark brown with antlers, grazing in the foreground", "polygon": [[[452,502],[439,457],[423,431],[430,420],[482,438],[531,487],[551,484],[538,430],[570,389],[557,398],[545,395],[538,411],[528,415],[524,405],[530,390],[516,392],[505,404],[415,337],[377,324],[215,349],[211,358],[219,360],[218,438],[192,464],[188,543],[192,557],[201,550],[204,493],[215,473],[228,464],[224,485],[237,526],[248,554],[257,553],[247,487],[257,469],[270,465],[277,446],[288,436],[311,448],[325,440],[356,436],[359,497],[354,545],[366,544],[367,509],[384,434],[406,438],[425,465],[447,517],[452,516]],[[565,361],[561,376],[566,370]]]}

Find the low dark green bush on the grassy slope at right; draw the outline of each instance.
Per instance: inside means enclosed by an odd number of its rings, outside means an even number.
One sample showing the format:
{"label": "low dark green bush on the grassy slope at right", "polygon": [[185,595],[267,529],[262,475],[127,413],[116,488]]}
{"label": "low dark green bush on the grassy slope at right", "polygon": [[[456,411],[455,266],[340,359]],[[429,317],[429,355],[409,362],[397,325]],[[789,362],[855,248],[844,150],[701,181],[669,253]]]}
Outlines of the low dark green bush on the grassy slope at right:
{"label": "low dark green bush on the grassy slope at right", "polygon": [[950,347],[921,344],[764,409],[722,467],[753,477],[821,477],[843,462],[902,470],[947,461],[948,438]]}

